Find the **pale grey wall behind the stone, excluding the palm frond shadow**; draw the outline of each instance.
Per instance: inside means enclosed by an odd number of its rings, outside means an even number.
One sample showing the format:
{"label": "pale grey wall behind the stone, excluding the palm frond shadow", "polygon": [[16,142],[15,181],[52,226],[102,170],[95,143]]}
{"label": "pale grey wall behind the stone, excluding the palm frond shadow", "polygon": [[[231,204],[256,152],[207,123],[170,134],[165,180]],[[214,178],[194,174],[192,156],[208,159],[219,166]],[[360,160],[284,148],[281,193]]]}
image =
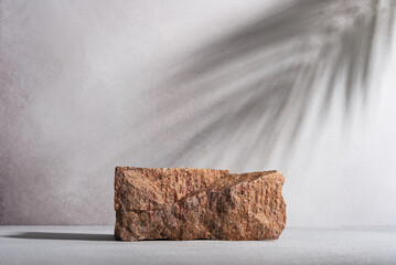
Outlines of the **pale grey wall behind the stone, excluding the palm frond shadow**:
{"label": "pale grey wall behind the stone, excluding the palm frond shadow", "polygon": [[289,225],[394,224],[395,66],[351,128],[335,107],[288,161],[258,152],[239,120],[206,140],[201,126],[222,109],[195,114],[227,91],[190,100],[165,82],[183,56],[269,12],[263,2],[2,0],[0,223],[113,224],[116,166],[179,166],[283,171]]}

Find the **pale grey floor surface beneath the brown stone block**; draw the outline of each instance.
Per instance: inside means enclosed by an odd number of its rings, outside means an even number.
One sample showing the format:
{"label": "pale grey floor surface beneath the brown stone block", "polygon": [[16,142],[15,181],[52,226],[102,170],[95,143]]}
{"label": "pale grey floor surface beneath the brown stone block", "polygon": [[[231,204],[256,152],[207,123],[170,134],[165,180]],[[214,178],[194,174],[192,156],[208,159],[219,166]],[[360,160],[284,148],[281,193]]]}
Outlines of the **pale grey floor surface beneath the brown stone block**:
{"label": "pale grey floor surface beneath the brown stone block", "polygon": [[111,226],[0,226],[0,264],[396,264],[396,227],[286,229],[277,241],[114,241]]}

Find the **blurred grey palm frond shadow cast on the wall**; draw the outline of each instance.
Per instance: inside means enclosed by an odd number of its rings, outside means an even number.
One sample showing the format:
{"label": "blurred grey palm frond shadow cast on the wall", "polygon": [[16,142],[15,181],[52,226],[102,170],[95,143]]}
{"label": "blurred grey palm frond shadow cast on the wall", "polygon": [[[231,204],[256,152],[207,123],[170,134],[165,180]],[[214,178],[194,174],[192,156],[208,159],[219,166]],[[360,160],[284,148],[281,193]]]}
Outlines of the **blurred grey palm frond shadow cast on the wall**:
{"label": "blurred grey palm frond shadow cast on the wall", "polygon": [[151,92],[160,98],[153,117],[171,120],[159,132],[191,128],[162,165],[180,165],[203,146],[218,165],[235,142],[243,148],[228,153],[229,163],[254,155],[265,165],[280,141],[296,142],[318,95],[325,118],[342,91],[347,116],[353,100],[370,93],[375,45],[387,47],[395,2],[297,0],[191,54]]}

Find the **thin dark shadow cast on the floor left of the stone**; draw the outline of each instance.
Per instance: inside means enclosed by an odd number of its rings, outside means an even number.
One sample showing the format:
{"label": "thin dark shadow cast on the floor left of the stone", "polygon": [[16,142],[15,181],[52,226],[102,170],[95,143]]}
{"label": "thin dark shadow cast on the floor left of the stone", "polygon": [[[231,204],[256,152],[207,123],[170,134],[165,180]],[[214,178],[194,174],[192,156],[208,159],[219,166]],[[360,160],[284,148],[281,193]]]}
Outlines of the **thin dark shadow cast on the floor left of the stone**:
{"label": "thin dark shadow cast on the floor left of the stone", "polygon": [[61,240],[61,241],[115,241],[113,234],[79,234],[79,233],[52,233],[52,232],[23,232],[8,235],[10,239],[24,240]]}

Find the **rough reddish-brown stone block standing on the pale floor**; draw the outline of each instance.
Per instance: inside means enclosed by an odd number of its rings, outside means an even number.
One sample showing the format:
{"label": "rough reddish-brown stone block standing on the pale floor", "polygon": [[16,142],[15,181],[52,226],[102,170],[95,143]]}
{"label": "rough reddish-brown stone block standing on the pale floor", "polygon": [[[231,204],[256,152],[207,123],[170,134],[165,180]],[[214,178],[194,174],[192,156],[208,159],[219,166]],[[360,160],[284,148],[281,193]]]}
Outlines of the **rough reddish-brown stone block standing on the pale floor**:
{"label": "rough reddish-brown stone block standing on the pale floor", "polygon": [[278,171],[117,167],[115,236],[276,240],[286,225]]}

